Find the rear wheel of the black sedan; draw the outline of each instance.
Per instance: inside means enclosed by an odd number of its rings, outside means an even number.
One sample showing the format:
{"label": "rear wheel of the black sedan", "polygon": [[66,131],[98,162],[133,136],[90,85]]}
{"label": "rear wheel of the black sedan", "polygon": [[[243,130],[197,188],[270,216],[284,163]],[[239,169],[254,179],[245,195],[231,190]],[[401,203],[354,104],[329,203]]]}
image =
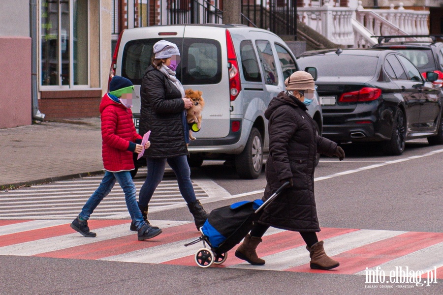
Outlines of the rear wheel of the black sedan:
{"label": "rear wheel of the black sedan", "polygon": [[392,123],[392,135],[388,141],[381,142],[386,155],[401,155],[406,146],[406,119],[402,110],[398,110]]}

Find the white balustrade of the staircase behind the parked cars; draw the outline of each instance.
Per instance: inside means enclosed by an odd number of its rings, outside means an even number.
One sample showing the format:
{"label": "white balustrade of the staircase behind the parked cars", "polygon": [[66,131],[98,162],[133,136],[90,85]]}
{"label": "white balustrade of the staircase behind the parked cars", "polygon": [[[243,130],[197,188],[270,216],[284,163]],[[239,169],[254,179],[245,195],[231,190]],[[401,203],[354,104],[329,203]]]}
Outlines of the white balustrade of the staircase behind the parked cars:
{"label": "white balustrade of the staircase behind the parked cars", "polygon": [[[321,7],[297,7],[298,20],[315,29],[331,42],[349,47],[368,47],[377,42],[369,35],[428,35],[429,11],[405,9],[399,3],[390,9],[364,9],[358,1],[357,10],[348,7],[334,7],[330,0],[324,0]],[[361,26],[359,26],[359,24]],[[429,38],[405,38],[402,40],[423,40]]]}

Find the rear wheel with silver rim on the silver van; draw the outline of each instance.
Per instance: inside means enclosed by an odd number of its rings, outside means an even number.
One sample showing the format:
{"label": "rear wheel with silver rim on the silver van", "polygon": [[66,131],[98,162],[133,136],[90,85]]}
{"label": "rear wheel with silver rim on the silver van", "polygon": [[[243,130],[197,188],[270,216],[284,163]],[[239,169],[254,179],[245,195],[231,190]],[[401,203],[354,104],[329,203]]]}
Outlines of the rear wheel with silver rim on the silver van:
{"label": "rear wheel with silver rim on the silver van", "polygon": [[263,142],[257,128],[252,128],[245,149],[235,156],[237,174],[243,179],[260,176],[263,167]]}

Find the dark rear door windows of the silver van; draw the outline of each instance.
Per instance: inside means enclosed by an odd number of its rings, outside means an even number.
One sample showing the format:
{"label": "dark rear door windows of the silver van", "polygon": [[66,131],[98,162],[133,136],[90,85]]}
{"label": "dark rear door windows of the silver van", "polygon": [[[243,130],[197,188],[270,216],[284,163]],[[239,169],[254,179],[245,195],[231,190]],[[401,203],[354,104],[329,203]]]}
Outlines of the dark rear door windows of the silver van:
{"label": "dark rear door windows of the silver van", "polygon": [[[122,76],[141,85],[151,64],[152,48],[162,38],[138,39],[126,43],[123,50]],[[183,85],[217,84],[221,81],[221,45],[212,39],[164,38],[175,43],[181,53],[177,78]]]}

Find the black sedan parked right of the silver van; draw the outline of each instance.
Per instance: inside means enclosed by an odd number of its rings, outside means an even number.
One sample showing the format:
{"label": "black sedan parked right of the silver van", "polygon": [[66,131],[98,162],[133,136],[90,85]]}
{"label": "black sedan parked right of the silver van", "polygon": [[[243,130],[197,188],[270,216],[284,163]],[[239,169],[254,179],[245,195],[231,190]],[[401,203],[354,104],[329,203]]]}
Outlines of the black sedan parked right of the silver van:
{"label": "black sedan parked right of the silver van", "polygon": [[[297,63],[317,68],[323,136],[338,143],[381,142],[400,155],[407,140],[443,144],[442,90],[392,50],[309,51]],[[431,82],[428,82],[431,81]]]}

